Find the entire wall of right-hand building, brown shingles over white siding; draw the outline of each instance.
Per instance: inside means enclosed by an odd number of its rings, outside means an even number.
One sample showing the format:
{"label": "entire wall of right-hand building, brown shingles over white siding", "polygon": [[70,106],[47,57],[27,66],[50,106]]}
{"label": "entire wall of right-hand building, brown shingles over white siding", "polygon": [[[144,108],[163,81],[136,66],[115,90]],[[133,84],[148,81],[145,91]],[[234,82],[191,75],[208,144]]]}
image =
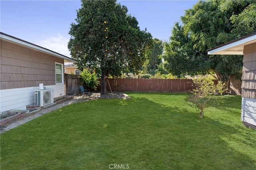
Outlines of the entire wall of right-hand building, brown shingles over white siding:
{"label": "entire wall of right-hand building, brown shingles over white siding", "polygon": [[244,46],[241,120],[256,126],[256,43]]}

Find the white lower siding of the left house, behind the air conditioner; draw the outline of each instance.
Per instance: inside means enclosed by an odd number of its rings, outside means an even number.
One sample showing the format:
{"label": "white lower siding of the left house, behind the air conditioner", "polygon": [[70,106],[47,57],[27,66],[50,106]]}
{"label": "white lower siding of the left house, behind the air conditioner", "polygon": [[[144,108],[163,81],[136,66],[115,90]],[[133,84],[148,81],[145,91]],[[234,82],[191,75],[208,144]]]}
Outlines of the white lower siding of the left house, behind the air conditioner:
{"label": "white lower siding of the left house, behind the air conditioner", "polygon": [[[44,87],[54,89],[54,98],[65,95],[64,84]],[[27,105],[34,104],[34,90],[38,89],[39,86],[0,90],[0,111],[26,109]]]}

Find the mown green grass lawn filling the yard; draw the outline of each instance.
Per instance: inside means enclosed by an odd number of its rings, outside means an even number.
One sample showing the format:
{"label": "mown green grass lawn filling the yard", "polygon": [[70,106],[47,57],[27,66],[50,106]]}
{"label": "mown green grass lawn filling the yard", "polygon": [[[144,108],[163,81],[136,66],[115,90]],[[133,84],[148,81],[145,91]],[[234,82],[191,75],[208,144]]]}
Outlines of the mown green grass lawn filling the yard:
{"label": "mown green grass lawn filling the yard", "polygon": [[1,134],[1,170],[256,169],[256,130],[240,121],[241,96],[218,96],[224,104],[202,119],[188,94],[127,94],[62,107]]}

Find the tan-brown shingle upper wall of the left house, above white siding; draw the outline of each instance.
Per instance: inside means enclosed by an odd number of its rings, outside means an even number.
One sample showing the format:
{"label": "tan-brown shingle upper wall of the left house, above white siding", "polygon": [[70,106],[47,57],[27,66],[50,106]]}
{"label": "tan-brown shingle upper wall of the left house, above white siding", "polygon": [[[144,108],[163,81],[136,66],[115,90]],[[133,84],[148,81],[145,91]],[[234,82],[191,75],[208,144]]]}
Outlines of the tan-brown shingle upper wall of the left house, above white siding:
{"label": "tan-brown shingle upper wall of the left house, above white siding", "polygon": [[55,62],[63,59],[1,39],[0,90],[55,85]]}

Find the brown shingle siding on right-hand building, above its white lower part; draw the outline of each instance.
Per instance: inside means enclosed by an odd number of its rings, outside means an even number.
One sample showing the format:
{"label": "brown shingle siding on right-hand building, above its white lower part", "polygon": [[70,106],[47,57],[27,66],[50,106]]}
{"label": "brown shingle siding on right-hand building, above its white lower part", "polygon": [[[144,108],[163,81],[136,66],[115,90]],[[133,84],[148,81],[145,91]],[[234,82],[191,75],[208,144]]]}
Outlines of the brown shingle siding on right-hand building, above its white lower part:
{"label": "brown shingle siding on right-hand building, above its white lower part", "polygon": [[256,43],[244,46],[242,97],[256,99]]}

